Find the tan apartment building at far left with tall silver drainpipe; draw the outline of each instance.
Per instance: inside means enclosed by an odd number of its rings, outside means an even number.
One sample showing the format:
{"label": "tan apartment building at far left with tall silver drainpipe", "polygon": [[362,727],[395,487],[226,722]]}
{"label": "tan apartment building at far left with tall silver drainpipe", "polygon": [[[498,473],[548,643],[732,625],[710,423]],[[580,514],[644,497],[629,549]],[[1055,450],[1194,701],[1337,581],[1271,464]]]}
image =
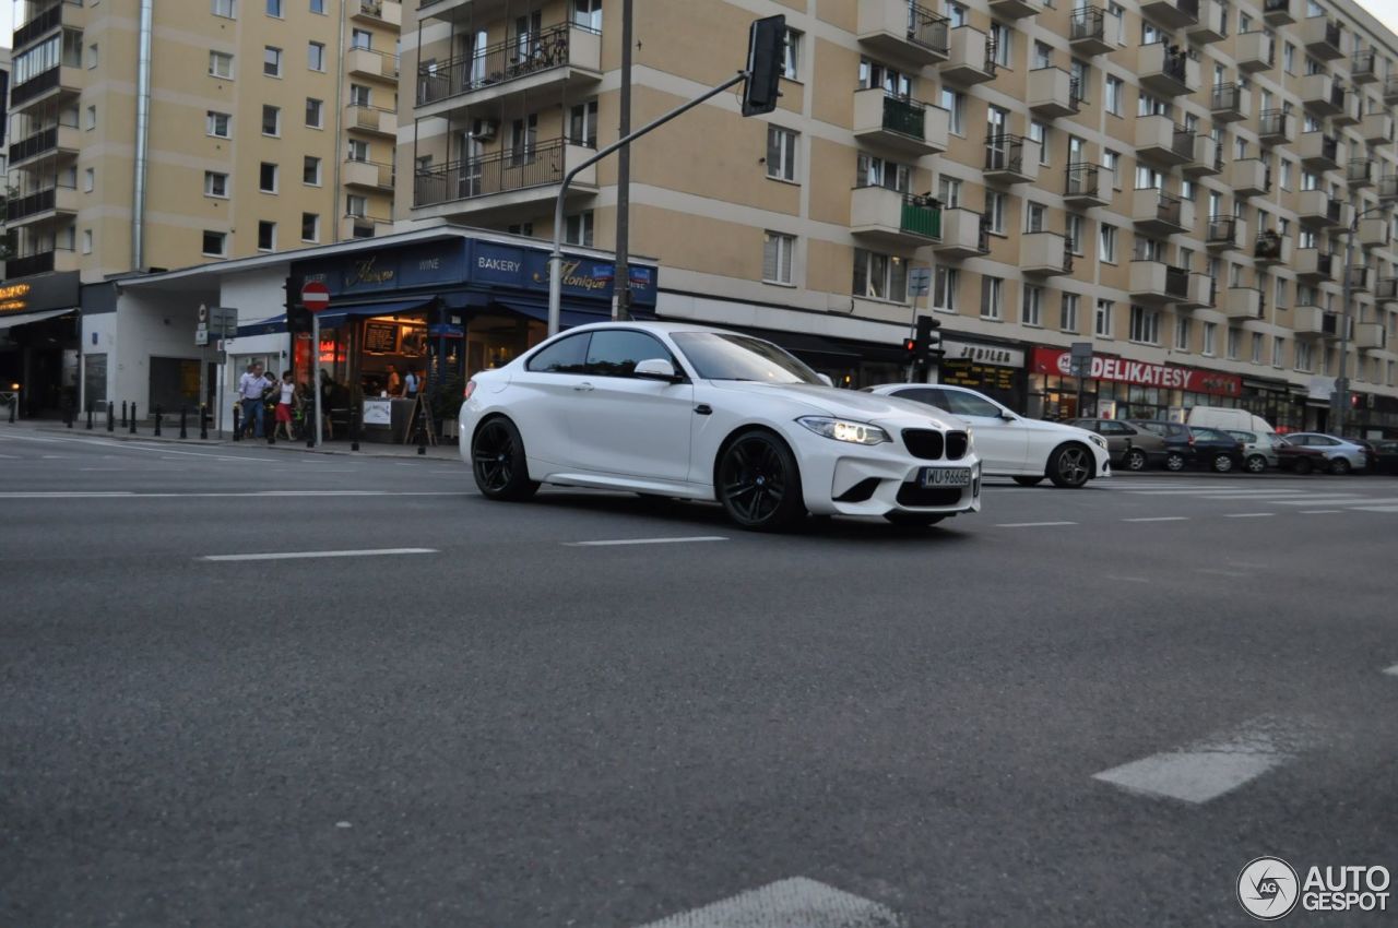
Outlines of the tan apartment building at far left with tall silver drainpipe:
{"label": "tan apartment building at far left with tall silver drainpipe", "polygon": [[78,345],[109,281],[387,231],[401,4],[32,0],[15,21],[0,372],[28,412],[80,369],[101,401],[116,338],[162,394],[199,383],[169,319]]}

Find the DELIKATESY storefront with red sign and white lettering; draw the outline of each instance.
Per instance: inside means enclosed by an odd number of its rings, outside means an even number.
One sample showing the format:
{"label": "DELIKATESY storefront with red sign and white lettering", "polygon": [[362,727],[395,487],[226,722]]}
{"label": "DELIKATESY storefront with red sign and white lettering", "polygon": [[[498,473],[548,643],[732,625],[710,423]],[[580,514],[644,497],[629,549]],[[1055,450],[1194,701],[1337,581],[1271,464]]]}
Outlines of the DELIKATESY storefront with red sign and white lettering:
{"label": "DELIKATESY storefront with red sign and white lettering", "polygon": [[1184,421],[1195,405],[1237,405],[1243,396],[1241,377],[1204,368],[1093,355],[1092,375],[1081,384],[1071,370],[1068,349],[1033,348],[1029,352],[1026,415],[1036,419],[1102,416]]}

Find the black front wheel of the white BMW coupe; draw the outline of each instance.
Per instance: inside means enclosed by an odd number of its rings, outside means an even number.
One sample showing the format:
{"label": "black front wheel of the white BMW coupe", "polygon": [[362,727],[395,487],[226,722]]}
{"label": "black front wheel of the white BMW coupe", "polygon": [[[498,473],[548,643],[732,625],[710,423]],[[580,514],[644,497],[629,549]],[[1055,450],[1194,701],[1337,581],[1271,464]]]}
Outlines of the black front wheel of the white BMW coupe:
{"label": "black front wheel of the white BMW coupe", "polygon": [[754,429],[719,458],[719,502],[740,528],[780,531],[805,514],[801,474],[781,439]]}

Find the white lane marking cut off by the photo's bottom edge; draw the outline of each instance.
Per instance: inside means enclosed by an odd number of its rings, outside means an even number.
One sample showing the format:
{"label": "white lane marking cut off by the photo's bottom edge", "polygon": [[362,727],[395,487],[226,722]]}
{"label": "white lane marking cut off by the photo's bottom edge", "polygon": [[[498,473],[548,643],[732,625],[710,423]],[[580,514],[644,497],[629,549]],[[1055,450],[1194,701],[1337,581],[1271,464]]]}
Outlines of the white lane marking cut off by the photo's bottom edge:
{"label": "white lane marking cut off by the photo's bottom edge", "polygon": [[642,928],[896,928],[902,924],[898,913],[871,899],[794,876]]}

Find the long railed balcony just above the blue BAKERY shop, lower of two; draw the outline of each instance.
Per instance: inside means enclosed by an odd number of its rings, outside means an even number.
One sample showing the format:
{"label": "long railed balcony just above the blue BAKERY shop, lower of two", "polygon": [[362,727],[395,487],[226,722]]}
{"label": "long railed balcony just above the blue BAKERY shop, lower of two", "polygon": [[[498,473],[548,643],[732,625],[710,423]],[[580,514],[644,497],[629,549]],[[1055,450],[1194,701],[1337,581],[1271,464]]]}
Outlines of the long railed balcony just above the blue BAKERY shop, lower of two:
{"label": "long railed balcony just above the blue BAKERY shop, lower of two", "polygon": [[[554,138],[528,151],[502,150],[426,168],[412,179],[412,207],[422,211],[412,218],[552,204],[563,175],[594,154],[591,148]],[[573,179],[569,196],[583,198],[596,193],[597,166],[593,165]]]}

